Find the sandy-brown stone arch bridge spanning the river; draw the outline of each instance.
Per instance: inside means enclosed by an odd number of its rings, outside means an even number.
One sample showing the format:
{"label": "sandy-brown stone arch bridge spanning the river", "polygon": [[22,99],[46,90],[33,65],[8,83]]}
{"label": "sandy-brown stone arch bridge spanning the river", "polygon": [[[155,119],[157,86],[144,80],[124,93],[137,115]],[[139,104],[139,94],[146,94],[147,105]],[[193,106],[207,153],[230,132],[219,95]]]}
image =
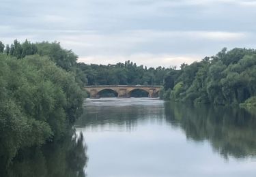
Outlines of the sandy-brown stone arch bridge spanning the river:
{"label": "sandy-brown stone arch bridge spanning the river", "polygon": [[85,90],[89,92],[91,98],[99,98],[100,91],[112,90],[117,93],[117,97],[129,98],[130,93],[134,90],[142,90],[148,93],[148,97],[158,97],[158,91],[162,86],[143,86],[143,85],[102,85],[102,86],[85,86]]}

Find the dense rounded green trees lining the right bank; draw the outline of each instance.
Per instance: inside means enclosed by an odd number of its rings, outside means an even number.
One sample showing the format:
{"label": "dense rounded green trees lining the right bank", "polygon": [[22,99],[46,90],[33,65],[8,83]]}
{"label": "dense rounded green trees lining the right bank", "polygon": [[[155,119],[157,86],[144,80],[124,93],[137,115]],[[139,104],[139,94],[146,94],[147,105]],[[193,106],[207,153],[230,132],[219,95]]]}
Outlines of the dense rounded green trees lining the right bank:
{"label": "dense rounded green trees lining the right bank", "polygon": [[223,48],[213,57],[171,69],[164,80],[164,99],[256,106],[256,51]]}

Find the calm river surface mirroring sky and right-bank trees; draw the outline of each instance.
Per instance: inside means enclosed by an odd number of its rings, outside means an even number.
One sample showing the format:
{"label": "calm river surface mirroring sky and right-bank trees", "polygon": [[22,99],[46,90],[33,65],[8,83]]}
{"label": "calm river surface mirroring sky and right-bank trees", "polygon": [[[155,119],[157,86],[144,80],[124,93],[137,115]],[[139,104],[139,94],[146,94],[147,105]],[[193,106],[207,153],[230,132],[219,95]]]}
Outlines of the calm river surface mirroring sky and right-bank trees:
{"label": "calm river surface mirroring sky and right-bank trees", "polygon": [[256,176],[256,117],[158,99],[87,99],[87,176]]}

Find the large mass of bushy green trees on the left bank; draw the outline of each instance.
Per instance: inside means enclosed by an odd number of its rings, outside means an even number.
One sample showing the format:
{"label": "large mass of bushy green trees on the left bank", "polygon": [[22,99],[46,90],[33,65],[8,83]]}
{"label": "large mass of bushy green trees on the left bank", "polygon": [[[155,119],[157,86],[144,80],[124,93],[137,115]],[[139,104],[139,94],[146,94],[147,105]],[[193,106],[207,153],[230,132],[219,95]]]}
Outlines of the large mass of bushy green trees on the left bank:
{"label": "large mass of bushy green trees on the left bank", "polygon": [[60,140],[82,112],[76,55],[59,43],[0,43],[0,161]]}

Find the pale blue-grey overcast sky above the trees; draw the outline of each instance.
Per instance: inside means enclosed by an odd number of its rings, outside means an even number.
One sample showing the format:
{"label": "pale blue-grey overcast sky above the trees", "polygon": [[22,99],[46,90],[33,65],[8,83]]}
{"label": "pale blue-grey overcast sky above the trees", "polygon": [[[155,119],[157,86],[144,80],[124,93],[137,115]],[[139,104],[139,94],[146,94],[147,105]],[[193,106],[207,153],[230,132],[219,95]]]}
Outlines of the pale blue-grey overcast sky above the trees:
{"label": "pale blue-grey overcast sky above the trees", "polygon": [[0,40],[57,41],[85,63],[180,66],[256,48],[256,1],[1,0]]}

